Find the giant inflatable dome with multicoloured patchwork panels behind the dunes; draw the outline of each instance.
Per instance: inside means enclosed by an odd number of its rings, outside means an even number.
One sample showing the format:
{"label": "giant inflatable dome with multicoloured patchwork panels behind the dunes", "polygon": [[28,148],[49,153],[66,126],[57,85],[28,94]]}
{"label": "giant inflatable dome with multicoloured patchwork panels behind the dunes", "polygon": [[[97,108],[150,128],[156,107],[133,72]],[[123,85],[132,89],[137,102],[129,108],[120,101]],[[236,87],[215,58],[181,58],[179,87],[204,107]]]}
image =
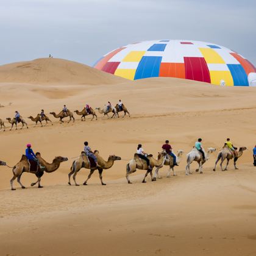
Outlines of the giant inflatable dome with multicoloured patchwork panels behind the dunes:
{"label": "giant inflatable dome with multicoloured patchwork panels behind the dunes", "polygon": [[105,54],[94,68],[126,79],[177,77],[215,85],[249,86],[256,73],[240,54],[213,43],[155,40],[133,43]]}

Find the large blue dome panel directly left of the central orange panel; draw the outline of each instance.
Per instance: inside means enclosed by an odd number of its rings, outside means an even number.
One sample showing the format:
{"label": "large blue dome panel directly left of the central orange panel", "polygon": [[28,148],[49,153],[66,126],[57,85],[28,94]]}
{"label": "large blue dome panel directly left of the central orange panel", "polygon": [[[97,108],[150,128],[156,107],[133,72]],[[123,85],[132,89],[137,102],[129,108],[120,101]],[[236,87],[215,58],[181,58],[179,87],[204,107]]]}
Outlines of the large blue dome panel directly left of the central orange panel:
{"label": "large blue dome panel directly left of the central orange panel", "polygon": [[134,80],[148,77],[158,77],[162,57],[143,56],[135,73]]}

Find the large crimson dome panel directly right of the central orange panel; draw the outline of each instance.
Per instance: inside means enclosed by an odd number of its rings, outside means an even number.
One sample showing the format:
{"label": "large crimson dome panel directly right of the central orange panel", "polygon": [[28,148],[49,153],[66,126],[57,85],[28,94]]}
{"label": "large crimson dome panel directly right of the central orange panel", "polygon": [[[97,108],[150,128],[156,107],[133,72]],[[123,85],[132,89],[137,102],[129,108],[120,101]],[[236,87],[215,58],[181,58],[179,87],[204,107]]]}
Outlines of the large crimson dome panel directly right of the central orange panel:
{"label": "large crimson dome panel directly right of the central orange panel", "polygon": [[211,82],[210,72],[203,57],[184,57],[186,79]]}

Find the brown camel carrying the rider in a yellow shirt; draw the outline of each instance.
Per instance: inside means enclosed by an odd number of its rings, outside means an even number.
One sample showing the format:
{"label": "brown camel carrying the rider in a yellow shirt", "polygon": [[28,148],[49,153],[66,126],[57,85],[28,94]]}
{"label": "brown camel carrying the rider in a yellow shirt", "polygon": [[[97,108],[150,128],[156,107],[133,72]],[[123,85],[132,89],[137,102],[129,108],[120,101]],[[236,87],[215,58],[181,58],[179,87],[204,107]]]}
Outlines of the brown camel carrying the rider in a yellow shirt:
{"label": "brown camel carrying the rider in a yellow shirt", "polygon": [[[227,166],[229,165],[229,160],[231,160],[233,158],[234,158],[235,170],[238,170],[238,168],[236,167],[236,161],[238,160],[239,157],[241,157],[241,155],[243,155],[243,151],[245,151],[246,149],[247,149],[246,147],[239,148],[237,156],[234,157],[232,152],[230,151],[229,147],[225,144],[225,146],[222,148],[222,150],[219,151],[219,153],[218,153],[218,157],[215,162],[215,167],[213,168],[213,171],[216,170],[216,165],[220,159],[221,159],[221,164],[220,164],[221,171],[227,171]],[[222,163],[224,162],[225,159],[227,159],[227,165],[226,165],[225,169],[222,169]]]}

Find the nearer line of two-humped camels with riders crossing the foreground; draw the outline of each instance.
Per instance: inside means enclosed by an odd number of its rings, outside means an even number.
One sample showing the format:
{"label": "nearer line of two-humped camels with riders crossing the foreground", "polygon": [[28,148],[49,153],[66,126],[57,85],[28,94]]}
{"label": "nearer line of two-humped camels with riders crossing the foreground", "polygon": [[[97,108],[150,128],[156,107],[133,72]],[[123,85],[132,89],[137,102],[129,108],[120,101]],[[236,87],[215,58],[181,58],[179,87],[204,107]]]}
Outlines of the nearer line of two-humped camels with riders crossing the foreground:
{"label": "nearer line of two-humped camels with riders crossing the foreground", "polygon": [[[121,157],[118,157],[115,154],[109,155],[107,160],[99,154],[98,150],[92,151],[90,146],[88,146],[88,142],[84,143],[84,151],[82,151],[79,157],[76,157],[73,160],[70,171],[68,173],[68,185],[71,185],[71,177],[73,177],[74,185],[79,186],[76,182],[77,173],[80,169],[85,168],[90,170],[87,179],[84,181],[83,185],[87,185],[88,180],[93,175],[94,171],[98,170],[99,179],[101,181],[101,185],[106,185],[102,179],[102,173],[105,169],[110,169],[115,164],[116,161],[122,160]],[[215,162],[215,167],[213,171],[216,171],[216,165],[220,162],[220,167],[222,171],[227,171],[227,166],[229,165],[229,161],[233,159],[233,165],[235,170],[238,169],[236,166],[236,162],[238,158],[243,155],[243,152],[246,150],[246,147],[240,147],[238,150],[233,144],[230,142],[228,138],[221,151],[218,152],[218,157]],[[187,154],[187,166],[185,167],[185,174],[190,175],[192,172],[190,171],[190,165],[193,162],[197,162],[198,168],[196,172],[203,173],[202,166],[209,160],[210,155],[216,152],[216,148],[208,148],[207,151],[202,147],[202,139],[199,138],[193,149]],[[256,146],[255,146],[256,152]],[[136,172],[137,170],[146,171],[142,180],[142,183],[146,183],[146,178],[148,175],[151,177],[151,181],[155,182],[157,179],[161,179],[159,174],[160,169],[164,166],[168,166],[167,176],[170,177],[171,171],[173,176],[176,176],[176,172],[174,168],[179,166],[179,163],[182,160],[183,150],[177,151],[177,154],[173,153],[172,147],[169,144],[169,141],[166,140],[165,144],[162,146],[162,151],[158,152],[157,157],[155,158],[152,154],[148,154],[144,151],[141,144],[138,144],[137,152],[133,155],[133,158],[129,160],[126,165],[126,180],[127,183],[132,184],[130,180],[130,175]],[[226,160],[226,167],[223,169],[222,164]],[[12,167],[13,177],[10,180],[10,186],[12,190],[15,190],[13,187],[13,182],[17,179],[17,182],[20,184],[21,188],[26,188],[21,183],[21,176],[23,172],[29,172],[34,174],[37,177],[36,182],[30,184],[31,187],[38,184],[38,188],[43,188],[41,186],[41,177],[44,172],[50,173],[57,171],[59,169],[60,164],[62,162],[68,161],[67,157],[55,157],[52,160],[52,163],[46,162],[41,154],[37,152],[34,154],[31,148],[31,144],[27,144],[26,155],[21,156],[20,162],[16,163],[15,166]],[[0,166],[7,166],[7,163],[0,161]],[[10,167],[9,167],[10,168]],[[153,169],[155,168],[155,172],[153,174]]]}

